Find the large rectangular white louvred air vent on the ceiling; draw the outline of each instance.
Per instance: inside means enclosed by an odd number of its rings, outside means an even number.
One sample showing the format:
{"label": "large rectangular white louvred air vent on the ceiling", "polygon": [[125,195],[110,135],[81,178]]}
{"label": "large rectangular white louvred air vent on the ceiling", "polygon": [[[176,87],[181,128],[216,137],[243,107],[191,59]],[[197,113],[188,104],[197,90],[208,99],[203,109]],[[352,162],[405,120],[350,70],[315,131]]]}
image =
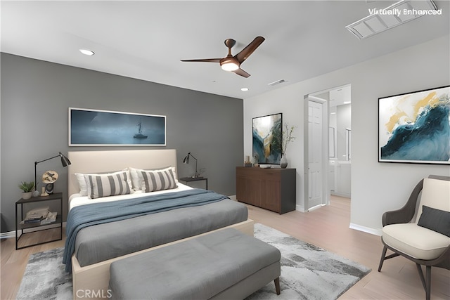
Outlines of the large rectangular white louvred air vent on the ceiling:
{"label": "large rectangular white louvred air vent on the ceiling", "polygon": [[345,26],[358,39],[366,39],[422,15],[442,14],[442,9],[438,10],[432,0],[401,0],[387,8],[369,8],[368,13],[366,18]]}

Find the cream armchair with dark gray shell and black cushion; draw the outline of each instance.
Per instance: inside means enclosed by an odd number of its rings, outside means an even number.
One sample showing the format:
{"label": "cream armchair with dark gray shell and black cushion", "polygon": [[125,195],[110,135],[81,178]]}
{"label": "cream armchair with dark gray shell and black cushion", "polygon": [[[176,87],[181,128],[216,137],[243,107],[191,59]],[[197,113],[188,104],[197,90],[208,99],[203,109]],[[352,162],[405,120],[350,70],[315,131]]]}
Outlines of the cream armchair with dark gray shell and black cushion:
{"label": "cream armchair with dark gray shell and black cushion", "polygon": [[[404,256],[416,263],[425,298],[429,300],[431,267],[450,270],[450,177],[430,175],[424,178],[413,189],[404,207],[385,212],[381,241],[384,247],[378,272],[385,259]],[[387,249],[394,253],[386,256]],[[425,266],[426,277],[422,266]]]}

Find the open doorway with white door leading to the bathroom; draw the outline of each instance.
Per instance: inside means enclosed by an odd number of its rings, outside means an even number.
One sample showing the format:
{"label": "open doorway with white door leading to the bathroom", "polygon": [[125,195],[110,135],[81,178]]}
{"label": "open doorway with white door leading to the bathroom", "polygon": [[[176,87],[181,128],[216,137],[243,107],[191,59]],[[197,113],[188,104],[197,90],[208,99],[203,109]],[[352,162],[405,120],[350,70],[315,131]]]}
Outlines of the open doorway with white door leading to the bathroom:
{"label": "open doorway with white door leading to the bathroom", "polygon": [[304,211],[351,196],[351,86],[304,96]]}

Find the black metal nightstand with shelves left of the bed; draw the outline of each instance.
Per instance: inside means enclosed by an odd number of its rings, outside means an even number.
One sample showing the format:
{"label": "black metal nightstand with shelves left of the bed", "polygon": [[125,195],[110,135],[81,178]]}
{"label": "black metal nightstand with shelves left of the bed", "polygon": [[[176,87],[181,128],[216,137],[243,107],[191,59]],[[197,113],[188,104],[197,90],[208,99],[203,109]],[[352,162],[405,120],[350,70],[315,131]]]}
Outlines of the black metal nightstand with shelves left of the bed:
{"label": "black metal nightstand with shelves left of the bed", "polygon": [[[20,223],[25,219],[25,211],[24,205],[32,204],[34,205],[37,202],[57,202],[58,203],[58,211],[56,216],[56,221],[41,224],[41,222],[37,223]],[[35,206],[35,205],[34,205]],[[20,214],[19,214],[20,209]],[[54,210],[54,209],[53,209]],[[52,209],[51,209],[52,211]],[[17,202],[15,202],[15,249],[23,249],[27,247],[32,247],[37,244],[44,244],[46,242],[54,242],[57,240],[63,240],[63,193],[54,193],[49,196],[44,197],[32,197],[30,199],[24,200],[20,198]],[[42,230],[50,230],[50,229],[59,229],[59,237],[53,240],[43,240],[37,241],[34,244],[25,244],[19,247],[20,237],[25,235],[32,235]],[[20,235],[19,235],[20,232]]]}

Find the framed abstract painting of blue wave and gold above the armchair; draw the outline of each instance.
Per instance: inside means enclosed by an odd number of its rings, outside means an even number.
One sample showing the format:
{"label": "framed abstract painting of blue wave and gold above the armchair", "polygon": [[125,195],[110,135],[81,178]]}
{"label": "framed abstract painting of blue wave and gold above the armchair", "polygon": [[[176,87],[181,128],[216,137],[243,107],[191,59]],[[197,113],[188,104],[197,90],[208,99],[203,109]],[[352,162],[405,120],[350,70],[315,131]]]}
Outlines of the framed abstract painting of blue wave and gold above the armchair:
{"label": "framed abstract painting of blue wave and gold above the armchair", "polygon": [[378,98],[378,162],[450,164],[450,86]]}

